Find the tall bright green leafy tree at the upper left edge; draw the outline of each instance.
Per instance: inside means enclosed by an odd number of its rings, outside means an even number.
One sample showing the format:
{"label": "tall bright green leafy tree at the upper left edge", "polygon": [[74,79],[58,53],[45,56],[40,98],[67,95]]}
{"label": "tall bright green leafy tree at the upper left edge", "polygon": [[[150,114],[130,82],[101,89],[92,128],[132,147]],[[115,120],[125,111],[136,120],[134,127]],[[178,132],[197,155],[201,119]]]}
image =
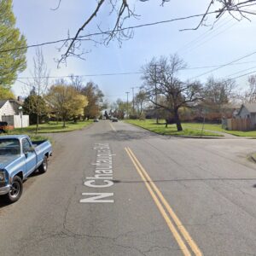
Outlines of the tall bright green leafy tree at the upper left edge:
{"label": "tall bright green leafy tree at the upper left edge", "polygon": [[4,89],[26,68],[26,39],[15,22],[12,0],[0,0],[0,87]]}

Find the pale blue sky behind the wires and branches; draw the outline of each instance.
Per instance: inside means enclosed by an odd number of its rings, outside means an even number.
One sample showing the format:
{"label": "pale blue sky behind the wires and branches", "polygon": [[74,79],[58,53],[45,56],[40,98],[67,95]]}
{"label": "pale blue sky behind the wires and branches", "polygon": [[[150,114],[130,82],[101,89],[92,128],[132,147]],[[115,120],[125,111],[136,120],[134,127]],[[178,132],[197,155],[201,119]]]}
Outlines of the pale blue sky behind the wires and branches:
{"label": "pale blue sky behind the wires and branches", "polygon": [[[58,0],[13,0],[16,26],[26,36],[27,44],[41,44],[71,37],[77,32],[91,12],[96,7],[96,1],[62,0],[58,9]],[[107,1],[108,2],[108,1]],[[193,2],[193,3],[192,3]],[[171,20],[189,15],[198,15],[205,12],[209,1],[171,1],[160,6],[160,0],[152,0],[142,3],[138,0],[128,1],[138,15],[137,18],[126,20],[125,26],[137,26],[161,20]],[[55,9],[55,10],[53,10]],[[256,6],[253,8],[256,11]],[[109,15],[110,6],[105,4],[100,9],[96,20],[81,33],[81,35],[98,32],[97,26],[102,29],[113,27],[114,17]],[[61,57],[61,44],[49,44],[43,46],[44,59],[49,69],[50,76],[60,77],[84,75],[84,84],[93,81],[103,91],[108,102],[114,102],[117,98],[126,99],[126,91],[129,91],[131,100],[131,88],[135,93],[143,84],[141,68],[153,57],[172,55],[177,53],[188,65],[188,69],[180,73],[181,79],[199,79],[204,83],[209,76],[216,79],[233,79],[249,72],[256,73],[256,54],[241,61],[236,65],[228,65],[218,68],[212,66],[224,65],[235,61],[244,55],[256,52],[256,15],[248,16],[251,21],[243,19],[238,21],[230,15],[224,15],[222,19],[212,27],[214,16],[207,19],[207,26],[201,26],[197,30],[183,31],[185,28],[194,28],[200,18],[182,21],[168,22],[156,26],[147,26],[135,29],[133,37],[122,42],[113,41],[108,44],[97,44],[84,41],[80,49],[88,51],[85,61],[79,58],[68,58],[67,64],[57,67],[56,60]],[[101,38],[93,38],[99,40]],[[27,68],[19,74],[19,79],[13,86],[16,96],[25,96],[24,83],[26,77],[32,76],[35,48],[27,50]],[[204,67],[204,68],[201,68]],[[133,73],[107,76],[109,73]],[[51,81],[54,83],[54,80]],[[237,90],[247,89],[247,76],[236,79]]]}

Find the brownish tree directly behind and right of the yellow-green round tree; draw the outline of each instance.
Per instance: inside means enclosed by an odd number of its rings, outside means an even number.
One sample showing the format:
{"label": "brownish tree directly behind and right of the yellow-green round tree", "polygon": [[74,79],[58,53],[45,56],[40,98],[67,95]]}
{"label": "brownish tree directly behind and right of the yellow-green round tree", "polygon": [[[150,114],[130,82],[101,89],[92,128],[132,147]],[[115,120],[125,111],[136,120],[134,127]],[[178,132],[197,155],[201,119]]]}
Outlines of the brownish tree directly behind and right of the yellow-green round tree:
{"label": "brownish tree directly behind and right of the yellow-green round tree", "polygon": [[89,82],[81,89],[81,94],[88,99],[88,105],[84,108],[84,117],[90,119],[98,116],[104,96],[102,90],[99,89],[97,84]]}

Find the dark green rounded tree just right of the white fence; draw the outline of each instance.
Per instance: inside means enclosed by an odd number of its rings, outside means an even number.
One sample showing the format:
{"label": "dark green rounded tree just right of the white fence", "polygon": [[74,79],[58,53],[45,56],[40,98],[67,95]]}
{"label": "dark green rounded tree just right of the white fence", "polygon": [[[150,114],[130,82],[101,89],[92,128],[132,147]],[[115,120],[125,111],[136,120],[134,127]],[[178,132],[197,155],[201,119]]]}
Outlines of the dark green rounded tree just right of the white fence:
{"label": "dark green rounded tree just right of the white fence", "polygon": [[37,125],[36,133],[38,133],[38,123],[41,118],[48,113],[47,105],[42,96],[32,93],[26,97],[23,103],[24,112],[29,114],[30,124]]}

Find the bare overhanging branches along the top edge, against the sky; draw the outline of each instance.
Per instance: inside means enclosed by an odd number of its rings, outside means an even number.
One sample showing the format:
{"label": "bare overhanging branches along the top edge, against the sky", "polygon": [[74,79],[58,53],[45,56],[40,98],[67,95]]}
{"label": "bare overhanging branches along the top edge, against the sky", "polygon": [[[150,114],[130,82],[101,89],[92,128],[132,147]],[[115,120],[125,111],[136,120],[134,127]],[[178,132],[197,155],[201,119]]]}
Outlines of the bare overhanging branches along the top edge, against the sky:
{"label": "bare overhanging branches along the top edge, against the sky", "polygon": [[[206,25],[206,21],[209,15],[215,15],[215,22],[222,18],[222,16],[226,13],[231,15],[236,20],[247,19],[248,15],[255,15],[255,13],[250,9],[252,6],[256,5],[256,0],[207,0],[208,5],[207,9],[203,14],[199,15],[190,15],[187,17],[181,18],[181,20],[199,17],[198,25],[194,28],[186,28],[183,30],[196,30],[200,26]],[[138,2],[148,2],[148,0],[139,0]],[[165,3],[171,2],[170,0],[159,0],[160,5],[164,6]],[[59,0],[58,5],[55,9],[60,8],[61,0]],[[91,35],[83,36],[82,32],[86,30],[91,22],[96,20],[96,16],[99,15],[101,9],[109,8],[109,15],[113,16],[113,26],[112,28],[106,30],[102,29],[102,26],[98,25],[99,32],[93,33]],[[61,59],[59,60],[59,64],[61,62],[65,62],[67,57],[76,56],[79,58],[83,58],[84,52],[80,51],[81,43],[85,40],[90,40],[95,43],[99,43],[96,41],[93,36],[103,35],[103,43],[108,44],[113,39],[117,39],[119,43],[121,43],[125,39],[129,39],[133,35],[132,28],[135,27],[125,27],[125,21],[131,18],[137,18],[135,11],[136,7],[131,8],[131,4],[128,3],[128,0],[97,0],[96,7],[92,10],[90,15],[85,18],[82,26],[79,27],[77,32],[73,37],[68,37],[67,41],[61,46],[65,48],[65,52],[61,55]],[[178,19],[176,19],[178,20]],[[103,22],[102,22],[103,23]],[[161,22],[155,22],[158,24]],[[150,24],[149,24],[150,25]],[[152,24],[151,24],[152,25]],[[138,26],[139,27],[139,26]]]}

